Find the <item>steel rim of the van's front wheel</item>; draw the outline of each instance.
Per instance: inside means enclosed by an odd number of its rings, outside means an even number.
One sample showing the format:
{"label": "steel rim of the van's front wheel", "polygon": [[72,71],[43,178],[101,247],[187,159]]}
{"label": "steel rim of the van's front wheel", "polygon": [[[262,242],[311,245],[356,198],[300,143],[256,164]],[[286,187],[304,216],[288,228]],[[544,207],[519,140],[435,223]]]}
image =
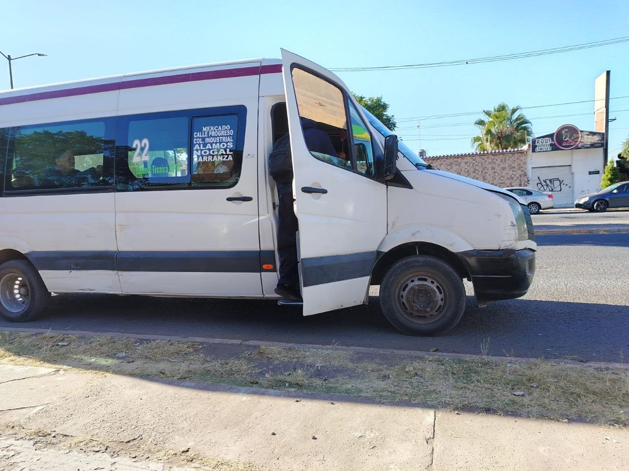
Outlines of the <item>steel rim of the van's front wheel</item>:
{"label": "steel rim of the van's front wheel", "polygon": [[396,286],[396,306],[411,322],[430,324],[443,317],[450,305],[450,291],[431,273],[413,273]]}

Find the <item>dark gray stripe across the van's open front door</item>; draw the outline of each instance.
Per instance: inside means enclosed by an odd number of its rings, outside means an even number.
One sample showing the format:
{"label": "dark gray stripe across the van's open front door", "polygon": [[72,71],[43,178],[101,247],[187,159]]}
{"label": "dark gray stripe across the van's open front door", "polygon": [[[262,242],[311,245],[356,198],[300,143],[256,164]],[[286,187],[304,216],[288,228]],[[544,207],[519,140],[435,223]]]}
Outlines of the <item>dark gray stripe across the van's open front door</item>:
{"label": "dark gray stripe across the van's open front door", "polygon": [[301,261],[304,286],[370,276],[377,252],[311,257]]}

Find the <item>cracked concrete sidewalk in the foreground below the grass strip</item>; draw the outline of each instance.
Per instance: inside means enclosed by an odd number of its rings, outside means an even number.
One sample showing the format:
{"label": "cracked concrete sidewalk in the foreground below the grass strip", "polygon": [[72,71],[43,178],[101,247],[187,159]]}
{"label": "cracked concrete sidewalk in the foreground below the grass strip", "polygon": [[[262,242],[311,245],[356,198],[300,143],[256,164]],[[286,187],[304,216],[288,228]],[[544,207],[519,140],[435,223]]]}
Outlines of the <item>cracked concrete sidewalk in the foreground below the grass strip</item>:
{"label": "cracked concrete sidewalk in the foreground below the grass strip", "polygon": [[[0,365],[0,469],[621,470],[629,431]],[[186,464],[189,463],[189,464]]]}

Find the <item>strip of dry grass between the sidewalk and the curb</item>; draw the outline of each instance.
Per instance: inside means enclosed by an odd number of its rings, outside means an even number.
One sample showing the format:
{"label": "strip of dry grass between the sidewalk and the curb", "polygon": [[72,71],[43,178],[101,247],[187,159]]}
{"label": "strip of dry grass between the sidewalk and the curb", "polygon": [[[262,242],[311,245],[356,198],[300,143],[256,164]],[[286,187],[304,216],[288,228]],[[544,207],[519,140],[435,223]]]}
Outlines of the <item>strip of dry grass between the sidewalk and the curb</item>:
{"label": "strip of dry grass between the sidewalk and the curb", "polygon": [[[199,347],[192,342],[142,344],[133,338],[5,332],[0,334],[0,361],[629,426],[629,369],[480,357],[409,360],[396,355],[278,347],[215,359],[205,357]],[[123,357],[121,352],[125,352]],[[518,391],[522,394],[515,396]]]}

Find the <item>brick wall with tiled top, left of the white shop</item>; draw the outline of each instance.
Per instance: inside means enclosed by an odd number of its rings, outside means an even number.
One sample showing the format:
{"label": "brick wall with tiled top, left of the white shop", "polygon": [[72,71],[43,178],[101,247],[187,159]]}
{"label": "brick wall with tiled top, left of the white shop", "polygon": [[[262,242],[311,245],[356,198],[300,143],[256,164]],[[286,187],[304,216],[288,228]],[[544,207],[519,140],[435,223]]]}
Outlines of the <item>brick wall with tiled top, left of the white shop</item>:
{"label": "brick wall with tiled top, left of the white shop", "polygon": [[526,187],[526,161],[528,149],[470,152],[429,156],[426,158],[439,170],[486,181],[496,187]]}

